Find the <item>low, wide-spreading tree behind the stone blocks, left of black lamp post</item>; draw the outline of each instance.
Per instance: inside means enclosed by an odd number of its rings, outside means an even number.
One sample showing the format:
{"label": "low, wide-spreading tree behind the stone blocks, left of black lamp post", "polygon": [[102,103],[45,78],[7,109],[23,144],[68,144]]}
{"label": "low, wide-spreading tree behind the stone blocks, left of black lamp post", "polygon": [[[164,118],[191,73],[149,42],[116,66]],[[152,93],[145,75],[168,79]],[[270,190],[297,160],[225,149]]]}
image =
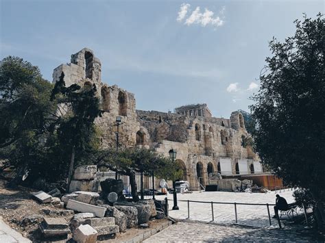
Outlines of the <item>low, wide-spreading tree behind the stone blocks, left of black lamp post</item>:
{"label": "low, wide-spreading tree behind the stone blocks, left of black lamp post", "polygon": [[156,177],[172,180],[182,176],[182,170],[178,164],[148,149],[130,148],[121,151],[115,149],[101,151],[97,157],[97,166],[104,166],[122,175],[128,175],[134,201],[139,201],[136,172],[143,172],[144,175],[154,173]]}

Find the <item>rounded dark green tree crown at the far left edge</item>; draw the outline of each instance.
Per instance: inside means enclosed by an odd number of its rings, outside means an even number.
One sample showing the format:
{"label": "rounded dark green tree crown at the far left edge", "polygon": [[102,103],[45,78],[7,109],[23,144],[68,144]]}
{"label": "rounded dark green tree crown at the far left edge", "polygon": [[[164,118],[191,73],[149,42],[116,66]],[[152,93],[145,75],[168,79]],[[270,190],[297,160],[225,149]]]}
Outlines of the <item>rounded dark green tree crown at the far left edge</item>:
{"label": "rounded dark green tree crown at the far left edge", "polygon": [[54,110],[52,87],[38,67],[19,57],[0,62],[0,148],[24,139],[28,131],[46,131],[47,114]]}

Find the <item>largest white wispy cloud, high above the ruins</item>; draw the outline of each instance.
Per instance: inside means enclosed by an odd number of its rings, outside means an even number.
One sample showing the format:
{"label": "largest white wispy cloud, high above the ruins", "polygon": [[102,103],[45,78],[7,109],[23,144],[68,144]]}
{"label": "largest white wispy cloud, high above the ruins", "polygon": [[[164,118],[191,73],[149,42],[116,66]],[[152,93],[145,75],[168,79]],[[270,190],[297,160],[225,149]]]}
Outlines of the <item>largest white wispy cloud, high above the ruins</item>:
{"label": "largest white wispy cloud, high above the ruins", "polygon": [[[180,11],[178,12],[178,18],[176,19],[178,22],[182,22],[182,20],[185,18],[187,12],[189,11],[189,4],[182,3],[180,5]],[[200,6],[196,7],[195,10],[191,13],[189,18],[186,18],[184,21],[184,25],[202,25],[203,27],[206,27],[206,25],[212,25],[215,27],[219,27],[224,25],[224,12],[225,12],[225,7],[223,7],[220,11],[219,14],[220,16],[215,16],[215,13],[211,10],[208,10],[206,8],[204,12],[201,12]]]}

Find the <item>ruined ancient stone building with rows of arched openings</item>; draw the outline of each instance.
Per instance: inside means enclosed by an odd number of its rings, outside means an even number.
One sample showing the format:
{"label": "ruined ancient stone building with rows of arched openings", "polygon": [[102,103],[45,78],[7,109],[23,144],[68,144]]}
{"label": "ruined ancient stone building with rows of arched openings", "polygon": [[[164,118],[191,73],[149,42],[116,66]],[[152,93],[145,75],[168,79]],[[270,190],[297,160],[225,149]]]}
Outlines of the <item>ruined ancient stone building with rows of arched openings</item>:
{"label": "ruined ancient stone building with rows of arched openings", "polygon": [[184,171],[182,179],[189,181],[192,190],[198,190],[200,183],[208,184],[211,172],[218,171],[221,175],[262,172],[252,148],[243,146],[243,140],[250,135],[240,112],[232,112],[230,119],[215,118],[206,104],[178,107],[175,113],[136,110],[134,94],[101,82],[101,63],[86,48],[71,55],[70,64],[54,69],[54,83],[62,72],[67,86],[97,87],[104,114],[95,123],[103,148],[115,147],[116,117],[121,116],[120,146],[154,149],[166,157],[175,149],[176,160]]}

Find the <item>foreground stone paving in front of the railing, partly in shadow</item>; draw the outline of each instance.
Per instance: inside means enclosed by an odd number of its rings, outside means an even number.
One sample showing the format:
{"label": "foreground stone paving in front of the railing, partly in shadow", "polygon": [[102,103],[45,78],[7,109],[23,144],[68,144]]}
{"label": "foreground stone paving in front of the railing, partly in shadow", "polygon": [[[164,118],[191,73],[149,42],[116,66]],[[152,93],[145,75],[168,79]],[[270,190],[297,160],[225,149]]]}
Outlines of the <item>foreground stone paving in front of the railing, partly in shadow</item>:
{"label": "foreground stone paving in front of the railing, partly in shadow", "polygon": [[315,242],[315,240],[290,227],[253,228],[185,220],[171,225],[144,242]]}

